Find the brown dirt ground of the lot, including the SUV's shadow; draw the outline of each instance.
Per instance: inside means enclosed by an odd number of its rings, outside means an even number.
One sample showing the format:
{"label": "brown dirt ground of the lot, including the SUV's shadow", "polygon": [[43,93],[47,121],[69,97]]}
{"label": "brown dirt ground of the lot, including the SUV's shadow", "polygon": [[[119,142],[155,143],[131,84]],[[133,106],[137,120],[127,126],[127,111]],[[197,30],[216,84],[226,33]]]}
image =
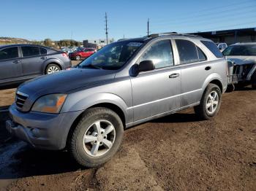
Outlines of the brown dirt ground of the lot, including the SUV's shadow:
{"label": "brown dirt ground of the lot, including the SUV's shadow", "polygon": [[[0,98],[11,104],[13,90]],[[255,103],[247,87],[225,93],[212,120],[188,109],[125,130],[117,155],[91,169],[8,139],[0,113],[0,190],[256,190]]]}

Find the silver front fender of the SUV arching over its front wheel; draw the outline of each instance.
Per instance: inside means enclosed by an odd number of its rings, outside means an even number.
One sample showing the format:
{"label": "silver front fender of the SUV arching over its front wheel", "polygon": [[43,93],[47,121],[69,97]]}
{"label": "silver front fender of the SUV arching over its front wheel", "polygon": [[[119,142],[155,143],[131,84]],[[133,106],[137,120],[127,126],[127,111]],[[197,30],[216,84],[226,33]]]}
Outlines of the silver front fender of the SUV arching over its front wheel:
{"label": "silver front fender of the SUV arching over its front wheel", "polygon": [[127,114],[128,106],[125,101],[113,93],[96,93],[86,97],[81,93],[70,94],[68,95],[61,112],[84,111],[96,104],[114,104],[118,106],[124,113],[126,122],[132,117],[132,114]]}

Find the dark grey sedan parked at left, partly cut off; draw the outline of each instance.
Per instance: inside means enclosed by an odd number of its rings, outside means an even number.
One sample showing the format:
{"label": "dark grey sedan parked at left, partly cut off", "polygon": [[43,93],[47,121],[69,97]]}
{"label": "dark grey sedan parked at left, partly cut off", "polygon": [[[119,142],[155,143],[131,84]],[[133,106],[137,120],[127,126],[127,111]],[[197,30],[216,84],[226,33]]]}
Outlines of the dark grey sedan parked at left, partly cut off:
{"label": "dark grey sedan parked at left, partly cut off", "polygon": [[71,67],[67,54],[31,44],[0,46],[0,86],[24,82]]}

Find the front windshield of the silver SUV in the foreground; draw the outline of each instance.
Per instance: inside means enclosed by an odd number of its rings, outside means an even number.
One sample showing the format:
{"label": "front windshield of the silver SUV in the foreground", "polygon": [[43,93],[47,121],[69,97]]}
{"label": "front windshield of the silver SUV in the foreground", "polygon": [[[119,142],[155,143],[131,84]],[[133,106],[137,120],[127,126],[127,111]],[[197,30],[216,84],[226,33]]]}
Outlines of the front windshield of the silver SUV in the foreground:
{"label": "front windshield of the silver SUV in the foreground", "polygon": [[79,69],[121,69],[142,44],[143,42],[115,42],[109,44],[81,62],[77,67]]}

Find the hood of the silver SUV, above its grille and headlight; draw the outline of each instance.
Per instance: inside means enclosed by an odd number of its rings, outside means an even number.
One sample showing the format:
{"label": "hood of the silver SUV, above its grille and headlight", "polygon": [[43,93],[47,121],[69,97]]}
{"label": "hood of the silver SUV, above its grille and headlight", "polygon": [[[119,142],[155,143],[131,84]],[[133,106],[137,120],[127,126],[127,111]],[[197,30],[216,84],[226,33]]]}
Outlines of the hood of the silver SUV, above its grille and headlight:
{"label": "hood of the silver SUV, above its grille and headlight", "polygon": [[31,79],[18,87],[29,98],[95,85],[115,77],[115,71],[102,69],[70,69]]}

